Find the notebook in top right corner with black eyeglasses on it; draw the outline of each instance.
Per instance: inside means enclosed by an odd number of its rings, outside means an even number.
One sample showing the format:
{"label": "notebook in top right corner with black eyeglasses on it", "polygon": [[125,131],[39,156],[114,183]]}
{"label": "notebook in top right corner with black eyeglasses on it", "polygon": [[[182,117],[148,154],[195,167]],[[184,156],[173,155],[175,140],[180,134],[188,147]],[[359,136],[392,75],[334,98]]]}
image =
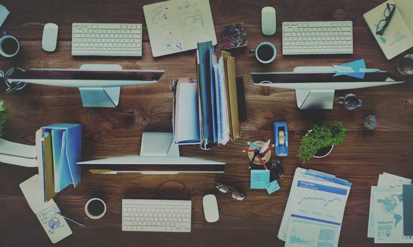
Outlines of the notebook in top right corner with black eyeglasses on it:
{"label": "notebook in top right corner with black eyeglasses on it", "polygon": [[[377,24],[385,19],[383,12],[387,3],[396,5],[396,10],[383,35],[376,34]],[[412,0],[389,0],[363,15],[377,43],[386,58],[405,52],[413,47],[413,10]]]}

